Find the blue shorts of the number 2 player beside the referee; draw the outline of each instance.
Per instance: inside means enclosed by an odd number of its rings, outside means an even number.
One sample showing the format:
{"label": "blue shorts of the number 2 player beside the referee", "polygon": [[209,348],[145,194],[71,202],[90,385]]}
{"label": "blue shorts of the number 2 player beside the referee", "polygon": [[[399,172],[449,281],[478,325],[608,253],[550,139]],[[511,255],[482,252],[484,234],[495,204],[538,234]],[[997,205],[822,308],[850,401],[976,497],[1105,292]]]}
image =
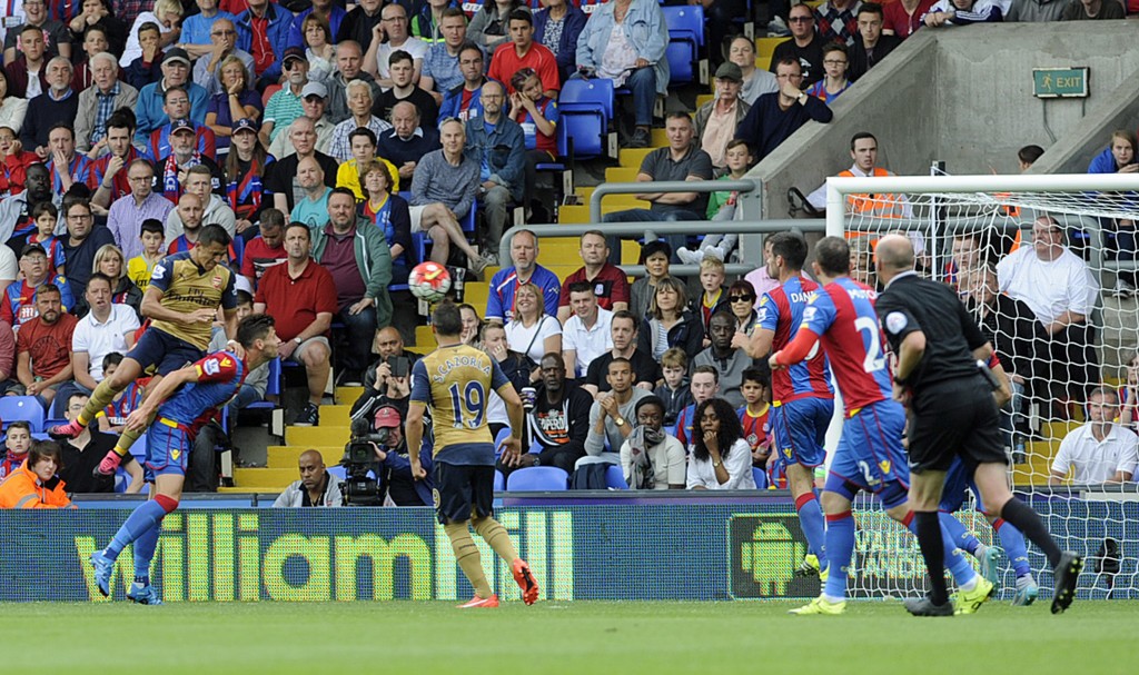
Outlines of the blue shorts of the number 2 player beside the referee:
{"label": "blue shorts of the number 2 player beside the referee", "polygon": [[[859,409],[843,423],[830,472],[875,494],[892,483],[909,489],[910,468],[902,447],[904,429],[906,410],[896,401],[878,401]],[[829,489],[830,480],[827,483]]]}

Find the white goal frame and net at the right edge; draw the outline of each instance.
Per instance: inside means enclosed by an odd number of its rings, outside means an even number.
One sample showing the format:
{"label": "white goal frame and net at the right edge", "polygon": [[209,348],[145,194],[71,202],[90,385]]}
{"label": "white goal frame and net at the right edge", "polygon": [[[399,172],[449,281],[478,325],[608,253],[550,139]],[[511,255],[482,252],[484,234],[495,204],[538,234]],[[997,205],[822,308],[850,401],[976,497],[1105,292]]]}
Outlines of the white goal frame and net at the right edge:
{"label": "white goal frame and net at the right edge", "polygon": [[[878,238],[904,233],[919,273],[953,287],[993,343],[1011,381],[1002,411],[1010,484],[1062,548],[1087,555],[1082,598],[1139,598],[1139,484],[1111,483],[1134,470],[1121,458],[1137,442],[1137,222],[1136,174],[827,181],[827,234],[850,242],[852,277],[877,286]],[[1060,453],[1066,437],[1080,461]],[[1054,470],[1065,474],[1058,484]],[[961,503],[959,519],[1000,546],[974,495]],[[917,540],[874,508],[863,508],[859,528],[854,594],[920,591]],[[1027,568],[1050,598],[1051,571],[1031,544]],[[1002,598],[1024,570],[1023,559],[1001,558]]]}

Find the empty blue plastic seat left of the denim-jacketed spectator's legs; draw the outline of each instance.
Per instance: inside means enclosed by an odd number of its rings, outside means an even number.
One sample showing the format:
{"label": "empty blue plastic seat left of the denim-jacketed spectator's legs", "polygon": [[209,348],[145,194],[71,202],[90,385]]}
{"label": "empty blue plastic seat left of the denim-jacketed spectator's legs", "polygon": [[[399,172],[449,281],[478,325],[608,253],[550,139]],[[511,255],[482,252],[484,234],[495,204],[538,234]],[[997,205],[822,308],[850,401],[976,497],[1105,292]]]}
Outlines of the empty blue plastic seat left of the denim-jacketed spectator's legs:
{"label": "empty blue plastic seat left of the denim-jacketed spectator's legs", "polygon": [[568,80],[558,96],[558,143],[576,159],[609,154],[609,123],[613,121],[613,81]]}

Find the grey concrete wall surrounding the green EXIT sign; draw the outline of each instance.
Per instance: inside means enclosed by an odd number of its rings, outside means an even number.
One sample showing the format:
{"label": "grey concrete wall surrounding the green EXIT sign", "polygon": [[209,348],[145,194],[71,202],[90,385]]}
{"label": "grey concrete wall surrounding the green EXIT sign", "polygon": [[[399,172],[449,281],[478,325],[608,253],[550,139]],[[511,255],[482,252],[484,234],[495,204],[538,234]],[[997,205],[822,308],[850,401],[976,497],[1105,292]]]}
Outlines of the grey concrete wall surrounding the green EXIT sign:
{"label": "grey concrete wall surrounding the green EXIT sign", "polygon": [[[752,171],[764,214],[784,217],[787,188],[806,192],[849,167],[858,131],[877,135],[879,164],[903,175],[927,175],[935,159],[954,174],[1015,173],[1029,143],[1049,150],[1038,171],[1082,172],[1112,129],[1139,120],[1134,36],[1130,22],[923,28],[838,98],[830,124],[809,123]],[[1087,99],[1032,96],[1032,68],[1060,66],[1091,68]]]}

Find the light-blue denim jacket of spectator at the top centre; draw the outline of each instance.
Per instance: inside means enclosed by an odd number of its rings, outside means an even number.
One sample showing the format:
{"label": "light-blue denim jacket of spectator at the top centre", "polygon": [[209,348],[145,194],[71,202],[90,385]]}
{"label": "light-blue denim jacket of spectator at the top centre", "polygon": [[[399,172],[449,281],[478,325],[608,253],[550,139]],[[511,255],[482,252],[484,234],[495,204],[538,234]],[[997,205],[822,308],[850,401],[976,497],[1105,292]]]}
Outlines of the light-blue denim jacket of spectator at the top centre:
{"label": "light-blue denim jacket of spectator at the top centre", "polygon": [[[577,38],[577,65],[597,69],[609,44],[616,22],[613,11],[616,2],[606,2],[590,15],[584,30]],[[656,75],[656,92],[669,96],[669,59],[664,50],[669,47],[669,26],[664,11],[656,2],[633,2],[625,16],[625,39],[632,44],[637,56],[653,64]],[[538,38],[534,38],[538,40]]]}

